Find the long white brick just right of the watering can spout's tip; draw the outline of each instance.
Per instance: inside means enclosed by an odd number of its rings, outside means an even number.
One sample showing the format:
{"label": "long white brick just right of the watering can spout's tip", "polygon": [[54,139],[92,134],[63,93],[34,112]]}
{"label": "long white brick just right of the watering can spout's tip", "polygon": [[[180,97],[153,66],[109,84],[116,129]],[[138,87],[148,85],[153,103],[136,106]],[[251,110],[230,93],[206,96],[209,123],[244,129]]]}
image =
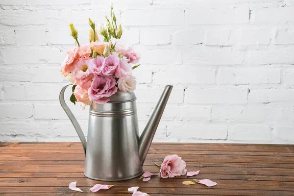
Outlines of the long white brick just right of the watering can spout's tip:
{"label": "long white brick just right of the watering can spout's tip", "polygon": [[188,103],[247,103],[247,89],[187,89]]}

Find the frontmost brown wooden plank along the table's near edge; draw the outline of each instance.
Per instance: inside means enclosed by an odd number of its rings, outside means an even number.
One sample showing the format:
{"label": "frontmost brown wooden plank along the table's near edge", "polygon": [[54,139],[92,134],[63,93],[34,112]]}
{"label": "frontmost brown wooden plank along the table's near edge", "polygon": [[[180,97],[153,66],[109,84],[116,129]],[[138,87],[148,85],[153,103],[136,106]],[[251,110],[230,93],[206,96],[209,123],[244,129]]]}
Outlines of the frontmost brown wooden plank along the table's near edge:
{"label": "frontmost brown wooden plank along the table's near edge", "polygon": [[[85,192],[89,191],[90,187],[81,187],[80,189]],[[109,190],[100,190],[96,194],[128,194],[128,187],[112,187]],[[294,196],[292,191],[269,191],[269,190],[239,190],[238,187],[235,189],[217,189],[211,188],[156,188],[150,189],[149,187],[140,188],[141,192],[148,194],[166,194],[166,195],[210,195],[210,196]],[[81,193],[76,193],[68,189],[68,187],[0,187],[0,193],[75,193],[76,195],[81,195]],[[93,194],[92,194],[93,195]]]}

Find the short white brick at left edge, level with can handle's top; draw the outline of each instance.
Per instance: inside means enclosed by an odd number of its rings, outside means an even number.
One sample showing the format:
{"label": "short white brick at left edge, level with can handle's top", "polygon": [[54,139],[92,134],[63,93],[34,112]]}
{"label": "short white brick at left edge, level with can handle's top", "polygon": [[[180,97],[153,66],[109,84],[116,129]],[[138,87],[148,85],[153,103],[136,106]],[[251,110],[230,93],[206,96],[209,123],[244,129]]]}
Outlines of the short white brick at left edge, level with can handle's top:
{"label": "short white brick at left edge, level with can handle's top", "polygon": [[25,100],[25,87],[24,86],[4,86],[4,99],[5,100]]}

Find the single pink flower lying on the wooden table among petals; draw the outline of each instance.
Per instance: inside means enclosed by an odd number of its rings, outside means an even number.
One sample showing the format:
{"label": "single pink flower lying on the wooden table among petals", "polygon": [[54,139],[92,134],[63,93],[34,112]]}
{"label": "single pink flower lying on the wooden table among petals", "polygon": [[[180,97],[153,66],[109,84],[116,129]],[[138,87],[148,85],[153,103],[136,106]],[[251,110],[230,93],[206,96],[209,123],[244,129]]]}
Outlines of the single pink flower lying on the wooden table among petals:
{"label": "single pink flower lying on the wooden table among petals", "polygon": [[185,175],[186,162],[176,154],[166,156],[161,164],[158,175],[162,178]]}

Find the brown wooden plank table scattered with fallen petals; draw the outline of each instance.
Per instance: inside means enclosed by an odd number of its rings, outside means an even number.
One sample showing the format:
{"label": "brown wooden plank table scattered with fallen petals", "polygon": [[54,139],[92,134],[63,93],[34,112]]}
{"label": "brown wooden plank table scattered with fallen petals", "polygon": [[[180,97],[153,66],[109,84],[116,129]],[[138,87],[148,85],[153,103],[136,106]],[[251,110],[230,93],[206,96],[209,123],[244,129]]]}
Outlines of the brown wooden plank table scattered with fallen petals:
{"label": "brown wooden plank table scattered with fallen petals", "polygon": [[[144,170],[159,172],[154,163],[175,153],[188,171],[200,174],[109,183],[83,175],[80,143],[0,143],[0,196],[131,196],[127,188],[132,186],[150,196],[294,196],[294,145],[153,143]],[[187,178],[208,178],[218,185],[183,185]],[[68,189],[73,181],[84,192],[98,183],[115,186],[83,194]]]}

